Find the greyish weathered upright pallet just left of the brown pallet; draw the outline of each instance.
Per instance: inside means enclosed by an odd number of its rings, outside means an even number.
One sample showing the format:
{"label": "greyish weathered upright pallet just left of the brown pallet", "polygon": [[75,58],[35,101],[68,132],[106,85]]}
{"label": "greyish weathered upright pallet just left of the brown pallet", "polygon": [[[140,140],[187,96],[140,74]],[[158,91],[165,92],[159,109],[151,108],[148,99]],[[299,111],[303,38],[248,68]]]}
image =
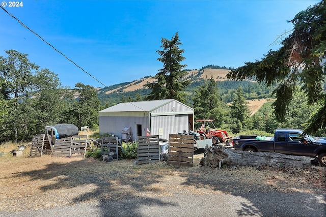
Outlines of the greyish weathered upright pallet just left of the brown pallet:
{"label": "greyish weathered upright pallet just left of the brown pallet", "polygon": [[138,164],[148,164],[159,161],[159,136],[139,136],[137,151]]}

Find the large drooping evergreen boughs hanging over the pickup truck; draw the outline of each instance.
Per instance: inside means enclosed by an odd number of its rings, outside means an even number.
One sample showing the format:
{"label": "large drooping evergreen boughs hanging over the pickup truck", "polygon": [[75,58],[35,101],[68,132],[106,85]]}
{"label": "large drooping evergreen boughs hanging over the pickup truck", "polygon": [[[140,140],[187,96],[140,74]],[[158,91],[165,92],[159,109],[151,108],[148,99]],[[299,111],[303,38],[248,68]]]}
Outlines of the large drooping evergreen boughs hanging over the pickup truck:
{"label": "large drooping evergreen boughs hanging over the pickup truck", "polygon": [[294,25],[293,30],[289,36],[282,36],[281,48],[270,50],[261,60],[245,63],[227,75],[236,80],[256,77],[268,86],[278,84],[273,106],[280,122],[285,121],[296,84],[302,83],[308,105],[319,106],[307,121],[305,130],[308,133],[326,128],[326,92],[322,87],[326,76],[325,17],[325,0],[301,11],[289,21]]}

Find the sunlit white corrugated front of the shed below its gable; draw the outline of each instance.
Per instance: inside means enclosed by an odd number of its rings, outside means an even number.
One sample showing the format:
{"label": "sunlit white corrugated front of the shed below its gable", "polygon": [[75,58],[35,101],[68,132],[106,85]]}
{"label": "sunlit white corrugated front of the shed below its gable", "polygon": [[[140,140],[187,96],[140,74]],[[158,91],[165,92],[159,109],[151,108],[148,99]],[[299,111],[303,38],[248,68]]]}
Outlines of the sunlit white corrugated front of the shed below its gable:
{"label": "sunlit white corrugated front of the shed below its gable", "polygon": [[188,131],[188,115],[165,115],[151,117],[152,135],[159,135],[161,129],[162,135],[159,138],[169,139],[169,134],[177,134],[183,130]]}

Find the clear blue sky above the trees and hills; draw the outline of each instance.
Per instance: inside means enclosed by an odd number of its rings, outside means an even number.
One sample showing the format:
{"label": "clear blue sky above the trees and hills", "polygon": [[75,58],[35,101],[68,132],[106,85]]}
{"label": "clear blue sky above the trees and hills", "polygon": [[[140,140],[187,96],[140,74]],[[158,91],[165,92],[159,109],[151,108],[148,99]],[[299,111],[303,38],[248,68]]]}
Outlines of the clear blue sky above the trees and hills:
{"label": "clear blue sky above the trees and hills", "polygon": [[[2,1],[3,2],[3,1]],[[263,57],[295,14],[319,1],[22,1],[5,9],[106,86],[154,76],[161,38],[176,32],[186,69]],[[64,86],[103,87],[0,9],[0,56],[14,49]]]}

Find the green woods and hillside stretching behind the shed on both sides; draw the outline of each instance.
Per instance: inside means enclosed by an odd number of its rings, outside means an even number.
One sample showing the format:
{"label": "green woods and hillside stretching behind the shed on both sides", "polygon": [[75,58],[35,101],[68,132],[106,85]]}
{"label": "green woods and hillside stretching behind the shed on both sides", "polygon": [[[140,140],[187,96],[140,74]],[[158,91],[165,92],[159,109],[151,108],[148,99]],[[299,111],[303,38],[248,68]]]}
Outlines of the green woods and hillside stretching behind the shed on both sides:
{"label": "green woods and hillside stretching behind the shed on both sides", "polygon": [[[44,126],[56,123],[96,129],[98,111],[120,102],[143,101],[150,92],[144,88],[144,83],[154,80],[146,76],[103,89],[82,83],[77,83],[74,88],[64,88],[58,75],[30,63],[27,54],[15,50],[6,52],[8,57],[0,58],[0,142],[29,141],[33,135],[43,133]],[[11,67],[12,62],[16,68]],[[187,72],[185,79],[192,82],[184,90],[185,103],[194,108],[195,119],[214,119],[216,127],[228,130],[232,135],[241,131],[273,133],[278,127],[303,128],[318,108],[308,107],[307,97],[298,86],[287,121],[280,123],[271,106],[274,86],[267,88],[253,79],[227,79],[225,75],[229,70],[226,69]],[[21,83],[21,80],[26,82]],[[116,90],[110,92],[112,89]],[[267,103],[251,115],[246,101],[249,99],[264,99],[261,102]],[[323,135],[322,132],[319,135]]]}

